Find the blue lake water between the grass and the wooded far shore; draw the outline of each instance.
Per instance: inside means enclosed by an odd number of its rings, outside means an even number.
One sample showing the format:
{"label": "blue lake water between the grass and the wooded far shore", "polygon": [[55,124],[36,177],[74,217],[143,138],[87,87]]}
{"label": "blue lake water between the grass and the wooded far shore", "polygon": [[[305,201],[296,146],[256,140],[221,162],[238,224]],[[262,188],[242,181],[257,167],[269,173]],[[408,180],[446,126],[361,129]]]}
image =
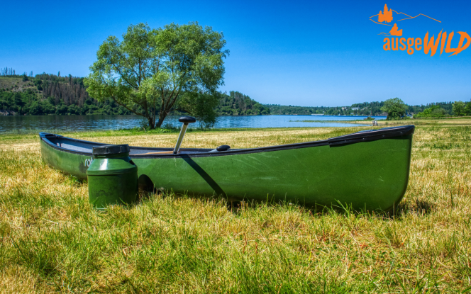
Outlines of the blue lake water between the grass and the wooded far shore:
{"label": "blue lake water between the grass and the wooded far shore", "polygon": [[[164,125],[179,126],[179,116],[165,118]],[[295,127],[354,127],[345,120],[362,120],[366,116],[336,115],[250,115],[220,116],[214,128],[295,128]],[[385,116],[373,116],[383,120]],[[302,122],[302,120],[315,120]],[[0,132],[15,130],[119,130],[143,125],[138,115],[23,115],[0,116]],[[198,123],[194,124],[197,127]]]}

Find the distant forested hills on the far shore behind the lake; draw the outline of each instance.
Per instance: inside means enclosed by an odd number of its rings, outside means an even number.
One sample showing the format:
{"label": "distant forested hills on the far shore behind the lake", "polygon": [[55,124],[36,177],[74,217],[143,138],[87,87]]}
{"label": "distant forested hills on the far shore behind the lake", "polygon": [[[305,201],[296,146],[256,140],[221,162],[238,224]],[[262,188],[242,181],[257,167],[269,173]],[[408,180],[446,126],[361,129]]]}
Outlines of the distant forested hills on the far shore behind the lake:
{"label": "distant forested hills on the far shore behind the lake", "polygon": [[[111,98],[96,101],[84,86],[83,77],[60,77],[59,74],[15,74],[13,69],[0,69],[0,115],[128,115],[132,114]],[[281,106],[260,104],[238,91],[221,95],[216,107],[219,115],[384,115],[383,102],[355,103],[351,106]],[[440,106],[452,113],[452,102],[409,106],[408,113],[422,112],[431,106]],[[174,111],[172,114],[182,114]]]}

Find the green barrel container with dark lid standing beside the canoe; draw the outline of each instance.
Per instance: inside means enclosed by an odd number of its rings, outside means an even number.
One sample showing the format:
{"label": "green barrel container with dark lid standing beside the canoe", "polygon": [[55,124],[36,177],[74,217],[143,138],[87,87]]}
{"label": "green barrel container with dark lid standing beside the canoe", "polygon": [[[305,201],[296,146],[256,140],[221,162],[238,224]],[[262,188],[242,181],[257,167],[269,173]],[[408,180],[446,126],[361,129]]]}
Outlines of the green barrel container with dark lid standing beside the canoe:
{"label": "green barrel container with dark lid standing beside the canoe", "polygon": [[129,157],[129,145],[93,147],[87,169],[89,200],[97,209],[111,204],[132,204],[138,194],[138,166]]}

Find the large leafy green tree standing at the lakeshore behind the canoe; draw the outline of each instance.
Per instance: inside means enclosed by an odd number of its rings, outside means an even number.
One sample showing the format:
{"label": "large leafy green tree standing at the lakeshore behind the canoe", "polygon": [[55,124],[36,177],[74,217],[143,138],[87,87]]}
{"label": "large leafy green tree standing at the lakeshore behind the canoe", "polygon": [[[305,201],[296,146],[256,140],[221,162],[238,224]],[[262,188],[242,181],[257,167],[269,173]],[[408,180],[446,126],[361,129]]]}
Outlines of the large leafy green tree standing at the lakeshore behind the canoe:
{"label": "large leafy green tree standing at the lakeshore behind the canoe", "polygon": [[110,36],[101,44],[84,84],[90,96],[112,98],[145,117],[150,128],[159,128],[177,109],[182,94],[216,94],[223,84],[223,58],[229,53],[224,45],[223,33],[198,23],[157,29],[131,25],[123,40]]}

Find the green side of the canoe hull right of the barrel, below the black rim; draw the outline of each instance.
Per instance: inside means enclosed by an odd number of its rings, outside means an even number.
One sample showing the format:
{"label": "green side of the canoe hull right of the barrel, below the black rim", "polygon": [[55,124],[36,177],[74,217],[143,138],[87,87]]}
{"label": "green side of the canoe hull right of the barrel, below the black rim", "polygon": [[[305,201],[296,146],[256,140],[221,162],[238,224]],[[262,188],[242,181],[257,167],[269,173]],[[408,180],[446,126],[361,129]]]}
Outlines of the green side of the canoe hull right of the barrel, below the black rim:
{"label": "green side of the canoe hull right of the barrel, below the black rim", "polygon": [[175,193],[389,210],[407,188],[411,135],[230,157],[134,158],[139,176]]}

